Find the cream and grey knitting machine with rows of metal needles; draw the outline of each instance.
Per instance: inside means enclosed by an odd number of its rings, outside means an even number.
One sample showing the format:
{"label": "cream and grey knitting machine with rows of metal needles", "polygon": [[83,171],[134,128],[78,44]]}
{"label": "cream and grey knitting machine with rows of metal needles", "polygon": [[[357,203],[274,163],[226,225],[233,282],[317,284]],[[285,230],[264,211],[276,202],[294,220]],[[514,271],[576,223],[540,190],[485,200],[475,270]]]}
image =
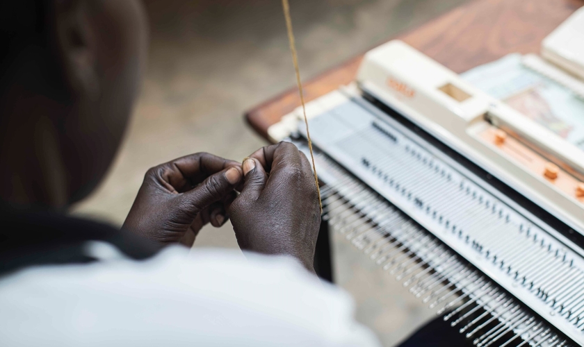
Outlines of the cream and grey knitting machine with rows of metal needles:
{"label": "cream and grey knitting machine with rows of metal needles", "polygon": [[307,113],[334,230],[476,346],[584,344],[584,153],[399,41]]}

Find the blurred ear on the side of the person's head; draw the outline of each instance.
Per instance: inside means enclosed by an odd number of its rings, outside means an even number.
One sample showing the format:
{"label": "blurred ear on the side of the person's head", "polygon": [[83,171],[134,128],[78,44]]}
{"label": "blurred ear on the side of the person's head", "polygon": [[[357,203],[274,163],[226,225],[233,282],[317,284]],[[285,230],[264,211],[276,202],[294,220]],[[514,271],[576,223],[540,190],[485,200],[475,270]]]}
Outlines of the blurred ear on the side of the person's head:
{"label": "blurred ear on the side of the person's head", "polygon": [[87,0],[51,2],[54,3],[55,40],[65,83],[74,96],[95,100],[100,94],[97,47]]}

